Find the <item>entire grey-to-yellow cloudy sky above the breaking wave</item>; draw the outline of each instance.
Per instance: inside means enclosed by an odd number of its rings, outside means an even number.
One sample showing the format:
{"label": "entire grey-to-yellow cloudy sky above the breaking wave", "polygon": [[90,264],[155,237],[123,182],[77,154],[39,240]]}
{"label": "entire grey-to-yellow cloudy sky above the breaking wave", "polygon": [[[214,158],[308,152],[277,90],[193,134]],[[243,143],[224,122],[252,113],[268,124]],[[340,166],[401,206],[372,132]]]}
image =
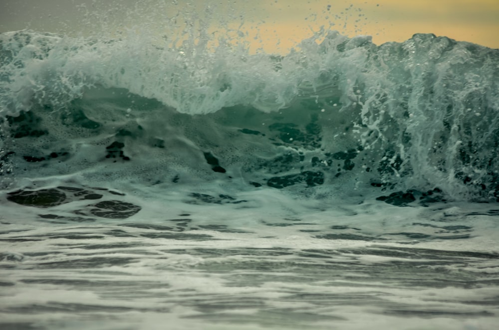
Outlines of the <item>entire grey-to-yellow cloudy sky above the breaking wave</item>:
{"label": "entire grey-to-yellow cloudy sky above the breaking wave", "polygon": [[434,33],[499,48],[499,0],[1,0],[0,32],[90,35],[146,22],[167,34],[166,21],[185,20],[186,12],[212,29],[240,29],[254,47],[276,52],[320,26],[371,35],[376,44]]}

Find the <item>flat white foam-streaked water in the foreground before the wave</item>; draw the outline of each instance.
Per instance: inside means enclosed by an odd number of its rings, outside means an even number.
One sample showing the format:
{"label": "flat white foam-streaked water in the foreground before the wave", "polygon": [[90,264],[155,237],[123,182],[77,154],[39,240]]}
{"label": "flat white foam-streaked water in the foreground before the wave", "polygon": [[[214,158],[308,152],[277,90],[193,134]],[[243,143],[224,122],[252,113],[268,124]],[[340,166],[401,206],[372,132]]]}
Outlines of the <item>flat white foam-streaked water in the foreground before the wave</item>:
{"label": "flat white foam-streaked water in the foreground before the wave", "polygon": [[[70,199],[59,205],[2,201],[5,326],[488,329],[497,320],[490,204],[307,209],[270,192],[242,206],[93,189],[53,188]],[[102,213],[97,200],[121,210]]]}

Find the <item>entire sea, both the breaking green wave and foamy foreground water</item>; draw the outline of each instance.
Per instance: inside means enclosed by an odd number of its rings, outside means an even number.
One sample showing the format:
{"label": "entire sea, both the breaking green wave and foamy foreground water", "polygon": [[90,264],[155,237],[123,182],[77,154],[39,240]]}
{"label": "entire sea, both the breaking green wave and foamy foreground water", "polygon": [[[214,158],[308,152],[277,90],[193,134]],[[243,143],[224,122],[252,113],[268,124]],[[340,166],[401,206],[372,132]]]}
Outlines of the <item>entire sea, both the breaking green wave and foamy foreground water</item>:
{"label": "entire sea, both the breaking green wave and foamy foreground water", "polygon": [[496,329],[499,50],[0,34],[0,328]]}

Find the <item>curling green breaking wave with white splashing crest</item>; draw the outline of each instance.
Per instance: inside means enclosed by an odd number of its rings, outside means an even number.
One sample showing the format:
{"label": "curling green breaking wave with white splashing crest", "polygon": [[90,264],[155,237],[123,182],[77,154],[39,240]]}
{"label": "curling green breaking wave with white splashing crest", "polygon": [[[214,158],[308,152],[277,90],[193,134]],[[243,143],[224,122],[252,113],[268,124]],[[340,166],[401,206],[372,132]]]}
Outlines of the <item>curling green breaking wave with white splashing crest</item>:
{"label": "curling green breaking wave with white splashing crest", "polygon": [[4,176],[499,197],[498,50],[326,31],[277,56],[18,31],[0,54]]}

